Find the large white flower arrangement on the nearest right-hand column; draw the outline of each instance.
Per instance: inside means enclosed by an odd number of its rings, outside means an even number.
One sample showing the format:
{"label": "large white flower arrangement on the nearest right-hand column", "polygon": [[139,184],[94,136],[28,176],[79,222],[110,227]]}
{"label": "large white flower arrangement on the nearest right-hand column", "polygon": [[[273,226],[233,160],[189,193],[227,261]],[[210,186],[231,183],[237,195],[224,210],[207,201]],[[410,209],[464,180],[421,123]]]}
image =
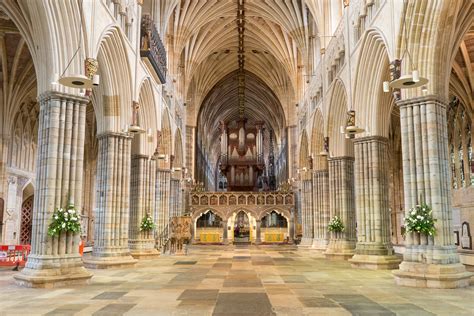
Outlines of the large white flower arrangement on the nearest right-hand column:
{"label": "large white flower arrangement on the nearest right-hand column", "polygon": [[406,232],[422,233],[429,236],[436,234],[433,211],[431,207],[425,203],[416,205],[408,212],[408,216],[404,219]]}

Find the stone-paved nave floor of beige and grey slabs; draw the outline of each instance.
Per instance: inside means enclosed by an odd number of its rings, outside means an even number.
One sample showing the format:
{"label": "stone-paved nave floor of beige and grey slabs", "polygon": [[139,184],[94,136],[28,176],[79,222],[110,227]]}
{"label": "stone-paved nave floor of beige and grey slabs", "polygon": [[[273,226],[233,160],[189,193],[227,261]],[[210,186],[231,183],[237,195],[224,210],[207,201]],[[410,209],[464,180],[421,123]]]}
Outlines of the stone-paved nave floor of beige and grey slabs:
{"label": "stone-paved nave floor of beige and grey slabs", "polygon": [[96,270],[91,284],[27,289],[0,270],[0,315],[474,315],[474,287],[413,289],[288,246],[194,246]]}

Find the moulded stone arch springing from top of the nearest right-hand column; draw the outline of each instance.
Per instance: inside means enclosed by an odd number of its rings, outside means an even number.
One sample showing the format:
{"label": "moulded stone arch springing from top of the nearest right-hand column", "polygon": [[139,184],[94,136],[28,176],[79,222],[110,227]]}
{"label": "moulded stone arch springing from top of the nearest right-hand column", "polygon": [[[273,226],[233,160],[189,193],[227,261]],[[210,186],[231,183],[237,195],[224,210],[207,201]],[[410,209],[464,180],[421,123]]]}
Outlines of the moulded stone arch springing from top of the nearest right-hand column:
{"label": "moulded stone arch springing from top of the nearest right-hand column", "polygon": [[[402,12],[397,55],[403,54],[407,42],[420,75],[429,79],[429,92],[441,99],[448,98],[453,47],[455,50],[459,47],[463,34],[470,28],[473,12],[472,1],[431,0],[409,1]],[[406,42],[404,15],[409,34]],[[402,73],[411,72],[407,60],[402,67]],[[420,88],[406,89],[403,93],[405,99],[422,95]]]}

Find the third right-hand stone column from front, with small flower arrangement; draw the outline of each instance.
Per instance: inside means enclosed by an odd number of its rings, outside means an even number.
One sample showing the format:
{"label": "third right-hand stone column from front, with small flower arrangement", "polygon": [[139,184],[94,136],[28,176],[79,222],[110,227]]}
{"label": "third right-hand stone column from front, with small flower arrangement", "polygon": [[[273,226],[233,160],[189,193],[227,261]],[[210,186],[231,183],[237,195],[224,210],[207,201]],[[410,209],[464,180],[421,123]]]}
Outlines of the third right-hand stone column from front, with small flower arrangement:
{"label": "third right-hand stone column from front, with small flower arrangement", "polygon": [[328,259],[347,260],[354,255],[356,243],[354,158],[329,159],[329,218],[339,216],[344,232],[330,233],[324,255]]}

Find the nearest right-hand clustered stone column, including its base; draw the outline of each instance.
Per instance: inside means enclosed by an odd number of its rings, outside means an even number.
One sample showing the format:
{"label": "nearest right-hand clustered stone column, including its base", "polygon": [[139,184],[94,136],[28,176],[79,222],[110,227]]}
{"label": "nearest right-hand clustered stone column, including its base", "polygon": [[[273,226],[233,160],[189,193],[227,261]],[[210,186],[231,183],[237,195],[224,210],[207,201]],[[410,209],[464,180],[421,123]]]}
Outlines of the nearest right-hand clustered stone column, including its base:
{"label": "nearest right-hand clustered stone column, including its base", "polygon": [[[469,285],[471,273],[459,262],[453,240],[451,175],[448,155],[446,103],[434,96],[397,102],[402,131],[405,216],[426,202],[433,209],[436,235],[419,238],[407,233],[399,285],[457,288]],[[420,196],[421,200],[420,201]]]}

